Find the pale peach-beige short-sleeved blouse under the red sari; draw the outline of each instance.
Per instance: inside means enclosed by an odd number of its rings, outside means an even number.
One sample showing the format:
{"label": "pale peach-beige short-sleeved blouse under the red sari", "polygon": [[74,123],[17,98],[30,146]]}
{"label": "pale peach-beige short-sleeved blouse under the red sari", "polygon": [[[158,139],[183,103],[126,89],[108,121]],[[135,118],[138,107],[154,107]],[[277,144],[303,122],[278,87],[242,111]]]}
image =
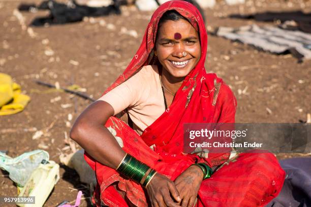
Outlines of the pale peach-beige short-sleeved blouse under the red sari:
{"label": "pale peach-beige short-sleeved blouse under the red sari", "polygon": [[128,109],[134,130],[142,134],[165,111],[157,65],[142,67],[137,74],[98,100],[108,102],[114,109],[114,115]]}

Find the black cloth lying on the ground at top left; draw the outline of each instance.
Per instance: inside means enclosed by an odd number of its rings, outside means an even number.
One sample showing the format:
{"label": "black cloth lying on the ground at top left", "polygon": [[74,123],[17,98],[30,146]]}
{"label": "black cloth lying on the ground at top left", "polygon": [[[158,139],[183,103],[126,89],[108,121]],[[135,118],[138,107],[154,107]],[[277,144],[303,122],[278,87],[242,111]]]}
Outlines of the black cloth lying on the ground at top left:
{"label": "black cloth lying on the ground at top left", "polygon": [[83,17],[106,16],[109,14],[120,14],[118,5],[109,5],[108,7],[88,7],[76,3],[61,4],[53,0],[44,1],[40,6],[34,7],[33,4],[19,6],[20,11],[28,11],[30,8],[39,10],[50,10],[47,17],[38,17],[30,25],[44,26],[45,24],[65,24],[70,22],[82,21]]}

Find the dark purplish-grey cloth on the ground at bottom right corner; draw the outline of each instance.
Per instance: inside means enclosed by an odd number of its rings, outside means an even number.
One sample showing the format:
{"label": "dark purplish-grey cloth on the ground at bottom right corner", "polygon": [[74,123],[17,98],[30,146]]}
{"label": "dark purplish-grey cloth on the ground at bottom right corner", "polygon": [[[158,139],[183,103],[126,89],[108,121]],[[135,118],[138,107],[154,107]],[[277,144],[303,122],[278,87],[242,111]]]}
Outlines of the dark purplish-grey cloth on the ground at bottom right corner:
{"label": "dark purplish-grey cloth on the ground at bottom right corner", "polygon": [[286,171],[281,193],[267,207],[311,206],[311,158],[292,158],[279,161]]}

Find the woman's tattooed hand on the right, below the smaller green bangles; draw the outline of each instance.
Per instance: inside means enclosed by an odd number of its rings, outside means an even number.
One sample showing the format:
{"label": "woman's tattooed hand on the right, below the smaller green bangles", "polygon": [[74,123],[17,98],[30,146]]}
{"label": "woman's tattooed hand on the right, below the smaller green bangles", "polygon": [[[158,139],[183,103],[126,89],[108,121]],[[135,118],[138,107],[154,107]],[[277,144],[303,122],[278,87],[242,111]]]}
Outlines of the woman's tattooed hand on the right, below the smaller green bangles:
{"label": "woman's tattooed hand on the right, below the smaller green bangles", "polygon": [[184,170],[175,180],[176,188],[182,199],[181,206],[193,207],[203,180],[203,171],[196,165]]}

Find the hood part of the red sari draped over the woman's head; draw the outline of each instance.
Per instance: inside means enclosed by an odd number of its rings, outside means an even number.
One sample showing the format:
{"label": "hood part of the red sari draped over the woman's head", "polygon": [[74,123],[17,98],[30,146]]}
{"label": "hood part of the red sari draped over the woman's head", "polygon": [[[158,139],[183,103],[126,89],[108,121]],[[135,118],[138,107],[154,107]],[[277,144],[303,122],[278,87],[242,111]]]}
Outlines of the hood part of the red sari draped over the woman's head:
{"label": "hood part of the red sari draped over the woman's head", "polygon": [[198,72],[204,67],[207,50],[207,33],[203,18],[199,10],[191,3],[185,1],[169,1],[161,5],[157,10],[155,10],[150,22],[148,23],[143,41],[138,51],[134,55],[131,63],[126,68],[125,72],[123,72],[123,74],[118,77],[118,79],[105,91],[105,93],[109,92],[116,86],[128,80],[131,76],[136,74],[142,68],[142,66],[150,64],[151,60],[154,57],[153,48],[156,41],[155,39],[157,37],[159,20],[162,15],[168,10],[176,10],[180,15],[188,19],[192,26],[200,34],[201,59],[199,60],[197,66],[194,68],[192,73],[190,73],[189,76],[185,79],[185,81],[187,81],[191,77],[191,74]]}

